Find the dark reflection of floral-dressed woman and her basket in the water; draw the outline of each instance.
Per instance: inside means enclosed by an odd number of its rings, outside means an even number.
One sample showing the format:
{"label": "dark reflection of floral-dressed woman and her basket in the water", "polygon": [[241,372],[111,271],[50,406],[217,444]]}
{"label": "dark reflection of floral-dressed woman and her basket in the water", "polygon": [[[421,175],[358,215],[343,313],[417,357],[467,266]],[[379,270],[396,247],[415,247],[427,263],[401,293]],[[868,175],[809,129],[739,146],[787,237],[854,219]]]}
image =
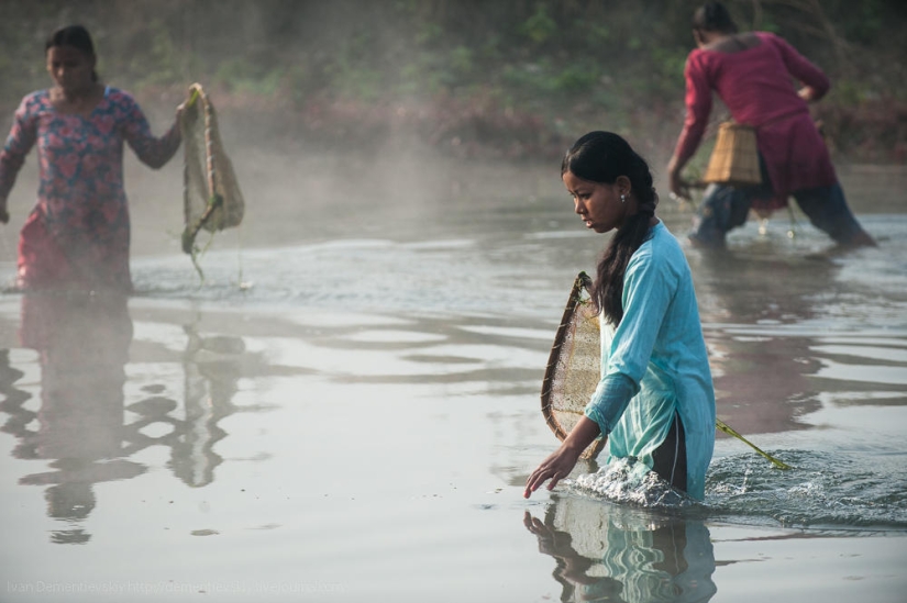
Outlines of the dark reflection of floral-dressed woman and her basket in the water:
{"label": "dark reflection of floral-dressed woman and her basket in the water", "polygon": [[128,298],[33,293],[22,297],[21,316],[22,346],[37,351],[40,407],[29,410],[32,388],[18,384],[24,372],[10,366],[7,350],[0,391],[10,416],[3,431],[18,440],[13,456],[48,461],[52,471],[25,474],[19,483],[46,487],[48,516],[67,525],[53,532],[53,541],[87,543],[82,525],[98,504],[93,484],[144,473],[147,467],[130,457],[147,447],[168,448],[168,466],[186,484],[213,480],[223,460],[214,444],[226,435],[218,422],[236,410],[231,397],[241,338],[206,339],[186,325],[182,391],[143,380],[128,401]]}

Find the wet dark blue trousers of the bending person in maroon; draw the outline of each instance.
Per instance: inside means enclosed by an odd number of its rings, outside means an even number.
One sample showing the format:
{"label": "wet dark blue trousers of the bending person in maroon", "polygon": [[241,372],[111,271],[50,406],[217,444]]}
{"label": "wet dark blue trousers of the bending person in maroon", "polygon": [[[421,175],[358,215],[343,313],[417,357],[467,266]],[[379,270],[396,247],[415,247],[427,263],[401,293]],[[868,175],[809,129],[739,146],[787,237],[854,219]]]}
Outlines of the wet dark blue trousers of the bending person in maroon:
{"label": "wet dark blue trousers of the bending person in maroon", "polygon": [[[773,196],[772,182],[765,164],[760,157],[762,183],[753,187],[730,187],[710,185],[706,189],[699,215],[689,238],[705,247],[725,245],[728,231],[746,222],[750,206],[755,199]],[[848,208],[844,191],[838,182],[829,187],[817,187],[794,191],[797,205],[809,217],[809,222],[828,234],[839,245],[872,244],[872,238]]]}

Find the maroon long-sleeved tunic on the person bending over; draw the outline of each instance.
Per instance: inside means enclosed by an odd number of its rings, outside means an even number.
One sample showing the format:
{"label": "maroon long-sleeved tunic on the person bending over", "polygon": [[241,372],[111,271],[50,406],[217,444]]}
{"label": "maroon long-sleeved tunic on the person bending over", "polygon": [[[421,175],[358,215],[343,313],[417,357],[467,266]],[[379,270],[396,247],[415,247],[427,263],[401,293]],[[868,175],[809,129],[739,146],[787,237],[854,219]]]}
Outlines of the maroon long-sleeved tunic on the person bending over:
{"label": "maroon long-sleeved tunic on the person bending over", "polygon": [[797,190],[837,181],[828,148],[792,77],[811,87],[816,98],[828,91],[828,77],[783,38],[756,32],[760,44],[737,53],[697,48],[685,67],[686,121],[675,155],[685,164],[706,130],[715,90],[733,120],[756,129],[771,192],[754,199],[754,209],[778,209]]}

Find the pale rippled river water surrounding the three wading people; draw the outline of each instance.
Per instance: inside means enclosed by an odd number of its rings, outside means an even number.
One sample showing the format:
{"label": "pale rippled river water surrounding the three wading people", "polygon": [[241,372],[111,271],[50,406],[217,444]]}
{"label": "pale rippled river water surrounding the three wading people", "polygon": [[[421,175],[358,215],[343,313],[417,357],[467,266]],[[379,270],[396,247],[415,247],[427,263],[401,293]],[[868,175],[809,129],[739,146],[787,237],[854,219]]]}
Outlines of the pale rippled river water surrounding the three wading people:
{"label": "pale rippled river water surrounding the three wading people", "polygon": [[0,297],[0,600],[903,601],[905,176],[844,181],[878,248],[785,215],[686,248],[719,417],[795,469],[719,434],[705,504],[645,509],[521,496],[605,241],[556,170],[403,165],[397,189],[338,163],[288,176],[335,196],[250,170],[203,284],[151,202],[173,189],[136,187],[135,297]]}

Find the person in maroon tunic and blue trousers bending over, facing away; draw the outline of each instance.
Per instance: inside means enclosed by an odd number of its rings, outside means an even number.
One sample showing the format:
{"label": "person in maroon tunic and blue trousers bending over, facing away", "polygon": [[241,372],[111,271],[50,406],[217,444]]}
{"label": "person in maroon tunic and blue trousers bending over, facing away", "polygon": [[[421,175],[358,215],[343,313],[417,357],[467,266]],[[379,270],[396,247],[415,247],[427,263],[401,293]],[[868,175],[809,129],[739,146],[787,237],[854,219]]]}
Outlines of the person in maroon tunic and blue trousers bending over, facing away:
{"label": "person in maroon tunic and blue trousers bending over, facing away", "polygon": [[[755,129],[763,183],[712,185],[706,190],[690,241],[723,246],[725,235],[742,225],[750,208],[771,213],[793,196],[812,224],[845,246],[874,245],[853,217],[808,102],[829,90],[828,77],[779,36],[737,33],[719,2],[694,15],[697,48],[687,57],[686,121],[668,164],[671,191],[685,197],[681,172],[696,152],[711,111],[712,90],[737,123]],[[792,80],[803,85],[799,91]]]}

